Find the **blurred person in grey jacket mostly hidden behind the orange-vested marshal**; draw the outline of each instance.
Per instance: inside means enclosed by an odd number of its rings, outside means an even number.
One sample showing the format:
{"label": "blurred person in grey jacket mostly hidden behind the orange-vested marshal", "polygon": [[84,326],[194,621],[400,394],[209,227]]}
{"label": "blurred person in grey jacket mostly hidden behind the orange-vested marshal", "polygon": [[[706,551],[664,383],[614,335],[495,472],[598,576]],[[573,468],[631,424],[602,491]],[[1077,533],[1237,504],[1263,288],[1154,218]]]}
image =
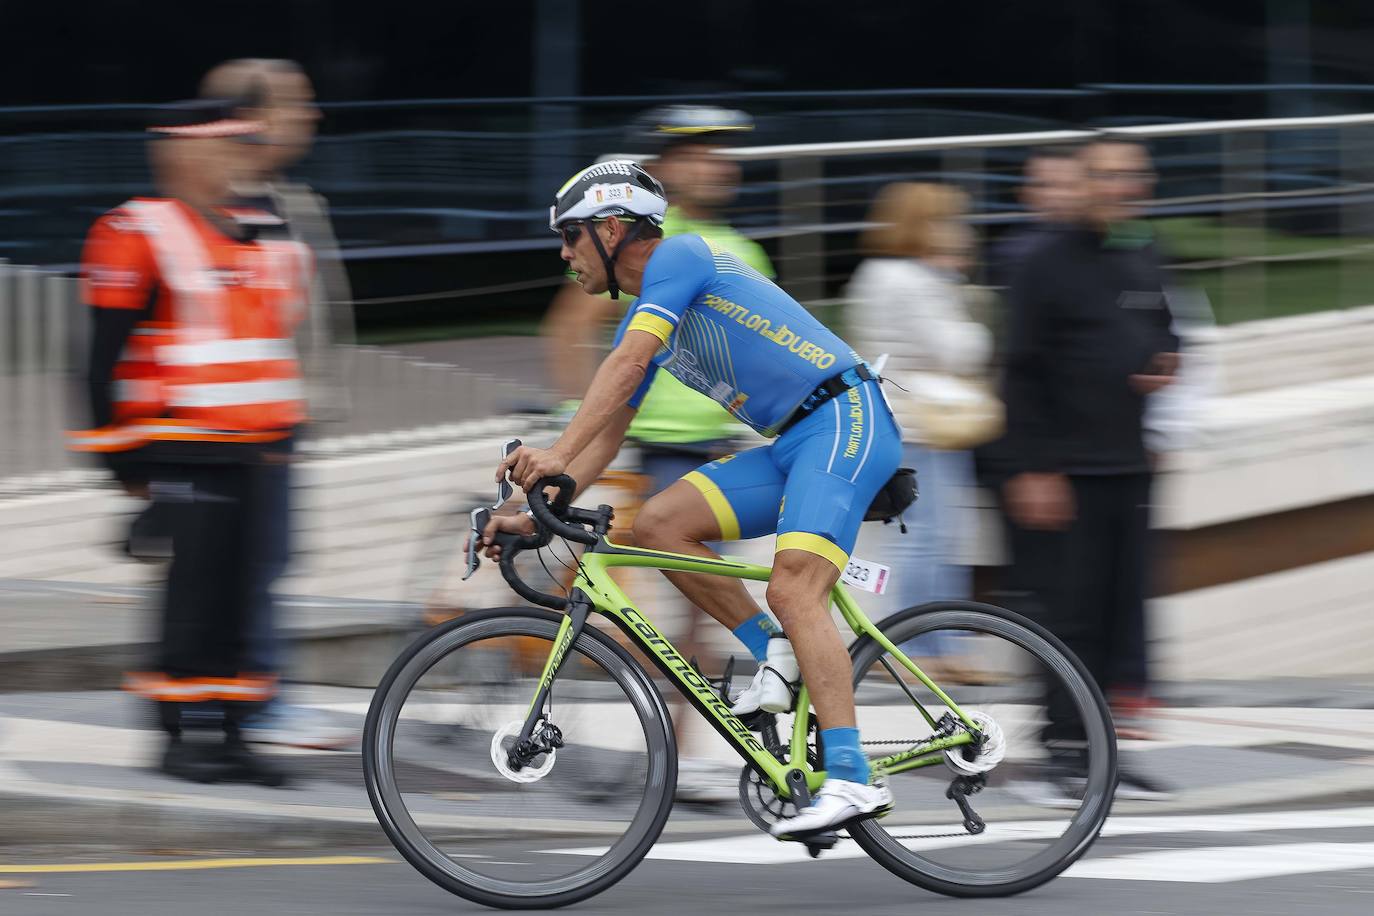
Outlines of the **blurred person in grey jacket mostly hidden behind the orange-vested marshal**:
{"label": "blurred person in grey jacket mostly hidden behind the orange-vested marshal", "polygon": [[[291,168],[315,143],[320,110],[309,77],[293,60],[228,60],[201,82],[202,98],[234,99],[239,117],[261,122],[256,143],[239,144],[234,177],[234,207],[256,220],[260,238],[290,239],[311,249],[317,265],[304,320],[295,331],[311,422],[342,419],[344,345],[353,341],[352,294],[338,257],[324,199],[305,184],[289,180]],[[279,460],[265,468],[269,511],[260,537],[265,564],[258,570],[249,652],[256,670],[280,673],[286,641],[272,584],[290,562],[291,534],[290,441]],[[245,724],[251,742],[331,748],[356,736],[328,724],[317,711],[287,705],[279,695]]]}

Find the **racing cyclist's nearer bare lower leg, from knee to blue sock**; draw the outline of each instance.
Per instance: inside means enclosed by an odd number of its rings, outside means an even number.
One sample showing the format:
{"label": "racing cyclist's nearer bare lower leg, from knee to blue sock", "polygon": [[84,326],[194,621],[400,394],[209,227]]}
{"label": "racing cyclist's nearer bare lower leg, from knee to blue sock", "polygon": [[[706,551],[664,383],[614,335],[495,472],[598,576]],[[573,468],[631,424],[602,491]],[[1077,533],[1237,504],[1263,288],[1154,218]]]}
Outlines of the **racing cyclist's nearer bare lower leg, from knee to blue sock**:
{"label": "racing cyclist's nearer bare lower leg, from knee to blue sock", "polygon": [[768,581],[768,607],[791,640],[820,728],[856,724],[853,669],[830,617],[830,589],[838,578],[840,570],[823,556],[779,551]]}

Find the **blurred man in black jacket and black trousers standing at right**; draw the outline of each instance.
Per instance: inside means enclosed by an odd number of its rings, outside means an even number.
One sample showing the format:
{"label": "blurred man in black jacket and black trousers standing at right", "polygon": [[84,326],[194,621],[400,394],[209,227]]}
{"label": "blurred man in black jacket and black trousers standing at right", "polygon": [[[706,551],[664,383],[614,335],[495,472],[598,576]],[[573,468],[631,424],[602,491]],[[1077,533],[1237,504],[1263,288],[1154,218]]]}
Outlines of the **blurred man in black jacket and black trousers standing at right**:
{"label": "blurred man in black jacket and black trousers standing at right", "polygon": [[[1050,628],[1103,691],[1143,698],[1151,457],[1142,419],[1146,397],[1172,380],[1178,338],[1153,235],[1134,220],[1153,188],[1149,154],[1107,139],[1080,157],[1083,220],[1041,236],[1011,277],[1003,394],[1015,464],[1003,500],[1014,525],[1065,533],[1043,597]],[[1055,706],[1047,740],[1069,747]]]}

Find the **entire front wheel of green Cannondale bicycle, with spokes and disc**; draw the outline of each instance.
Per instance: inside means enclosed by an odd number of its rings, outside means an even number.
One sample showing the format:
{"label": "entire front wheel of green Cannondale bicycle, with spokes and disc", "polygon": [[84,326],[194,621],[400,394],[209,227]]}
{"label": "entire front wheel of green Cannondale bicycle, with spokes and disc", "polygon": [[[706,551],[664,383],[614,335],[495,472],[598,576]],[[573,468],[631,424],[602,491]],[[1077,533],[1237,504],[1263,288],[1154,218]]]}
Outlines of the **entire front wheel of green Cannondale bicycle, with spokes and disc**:
{"label": "entire front wheel of green Cannondale bicycle, with spokes and disc", "polygon": [[[672,808],[677,753],[664,700],[592,626],[550,689],[547,753],[511,764],[561,619],[511,607],[427,630],[368,709],[363,772],[386,835],[436,884],[488,906],[563,906],[606,890],[644,857]],[[543,647],[537,662],[532,643]]]}

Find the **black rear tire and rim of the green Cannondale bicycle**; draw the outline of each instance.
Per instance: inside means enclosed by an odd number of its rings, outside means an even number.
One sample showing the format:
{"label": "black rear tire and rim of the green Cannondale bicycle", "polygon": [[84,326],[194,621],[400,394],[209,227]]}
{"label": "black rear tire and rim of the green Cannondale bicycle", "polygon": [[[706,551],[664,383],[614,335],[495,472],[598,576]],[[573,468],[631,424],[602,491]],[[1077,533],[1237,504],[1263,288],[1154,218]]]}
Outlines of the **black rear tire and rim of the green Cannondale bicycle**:
{"label": "black rear tire and rim of the green Cannondale bicycle", "polygon": [[[1088,711],[1083,724],[1090,759],[1091,755],[1101,755],[1101,765],[1095,768],[1084,787],[1083,805],[1070,821],[1070,829],[1051,847],[1055,850],[1052,857],[1024,873],[1009,871],[998,879],[959,875],[956,869],[933,862],[901,846],[886,832],[881,820],[857,821],[851,825],[849,835],[874,861],[918,887],[947,897],[1021,894],[1054,879],[1077,861],[1096,840],[1110,813],[1117,780],[1117,748],[1107,703],[1083,662],[1058,637],[1039,623],[1006,608],[976,602],[934,602],[899,611],[879,622],[878,629],[894,644],[901,644],[922,633],[937,630],[937,625],[949,629],[959,629],[959,625],[978,626],[981,629],[976,632],[1011,640],[1041,665],[1065,677],[1063,685],[1072,691],[1079,709]],[[856,687],[882,654],[882,648],[872,637],[855,640],[851,645],[851,658]],[[952,696],[958,700],[958,691]],[[899,798],[899,810],[900,805]]]}

